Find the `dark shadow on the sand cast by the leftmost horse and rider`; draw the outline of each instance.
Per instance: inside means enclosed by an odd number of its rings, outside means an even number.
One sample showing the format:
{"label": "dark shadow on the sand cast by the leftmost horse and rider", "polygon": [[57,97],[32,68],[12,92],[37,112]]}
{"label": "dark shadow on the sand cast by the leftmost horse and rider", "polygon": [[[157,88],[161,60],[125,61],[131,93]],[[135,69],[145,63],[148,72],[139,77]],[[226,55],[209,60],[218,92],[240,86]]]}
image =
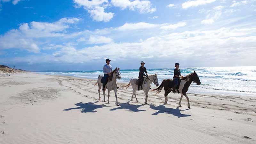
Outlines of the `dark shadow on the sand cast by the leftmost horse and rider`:
{"label": "dark shadow on the sand cast by the leftmost horse and rider", "polygon": [[96,109],[111,107],[111,106],[106,106],[105,104],[97,105],[95,103],[97,103],[97,102],[88,102],[88,103],[79,102],[79,103],[76,103],[76,106],[78,106],[78,107],[68,108],[68,109],[63,109],[63,110],[68,111],[68,110],[72,110],[72,109],[82,109],[81,113],[95,113],[95,112],[97,112]]}

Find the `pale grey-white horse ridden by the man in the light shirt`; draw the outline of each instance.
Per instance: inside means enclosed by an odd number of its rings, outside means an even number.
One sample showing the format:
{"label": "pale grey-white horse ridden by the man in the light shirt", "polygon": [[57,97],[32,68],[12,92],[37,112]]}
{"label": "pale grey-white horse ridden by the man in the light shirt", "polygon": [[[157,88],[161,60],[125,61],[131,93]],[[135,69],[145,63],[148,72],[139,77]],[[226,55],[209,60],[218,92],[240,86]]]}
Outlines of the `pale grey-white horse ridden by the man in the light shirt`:
{"label": "pale grey-white horse ridden by the man in the light shirt", "polygon": [[[118,102],[117,102],[117,95],[116,95],[116,87],[117,87],[117,82],[116,82],[116,79],[118,78],[118,79],[121,79],[121,73],[120,73],[120,68],[116,68],[115,70],[113,70],[111,73],[110,73],[110,76],[109,76],[109,78],[108,78],[108,83],[106,84],[106,87],[107,87],[107,89],[108,89],[108,103],[109,103],[109,92],[110,91],[113,91],[114,90],[114,92],[115,92],[115,96],[116,96],[116,105],[117,106],[119,106],[119,104],[118,104]],[[99,86],[99,100],[100,100],[100,89],[101,89],[101,87],[102,87],[102,83],[100,82],[101,81],[101,79],[103,78],[103,76],[101,76],[101,75],[99,75],[99,77],[98,77],[98,80],[97,80],[97,82],[94,84],[94,86],[95,85],[97,85],[98,84],[98,86]],[[105,91],[106,91],[106,88],[105,88],[105,90],[103,91],[103,95],[104,95],[104,101],[105,101]]]}

